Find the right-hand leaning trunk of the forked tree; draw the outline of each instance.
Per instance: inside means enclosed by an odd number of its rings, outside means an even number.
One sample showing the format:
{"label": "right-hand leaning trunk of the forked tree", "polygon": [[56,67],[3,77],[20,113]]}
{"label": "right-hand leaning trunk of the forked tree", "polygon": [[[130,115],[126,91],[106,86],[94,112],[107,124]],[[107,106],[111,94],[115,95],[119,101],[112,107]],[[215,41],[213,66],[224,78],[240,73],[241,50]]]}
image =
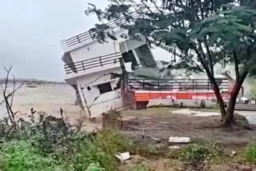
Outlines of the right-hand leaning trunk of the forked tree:
{"label": "right-hand leaning trunk of the forked tree", "polygon": [[230,101],[227,108],[225,125],[231,125],[234,122],[234,107],[237,101],[238,93],[242,88],[242,83],[245,81],[247,74],[247,71],[242,72],[242,74],[237,78],[234,87],[230,92]]}

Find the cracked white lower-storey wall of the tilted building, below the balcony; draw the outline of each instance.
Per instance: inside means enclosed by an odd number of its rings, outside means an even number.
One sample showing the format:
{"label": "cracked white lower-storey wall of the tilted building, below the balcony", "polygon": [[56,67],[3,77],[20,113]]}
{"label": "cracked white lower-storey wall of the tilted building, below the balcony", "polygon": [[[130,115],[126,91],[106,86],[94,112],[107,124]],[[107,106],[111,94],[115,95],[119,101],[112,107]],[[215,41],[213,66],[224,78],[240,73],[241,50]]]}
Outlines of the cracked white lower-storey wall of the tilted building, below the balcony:
{"label": "cracked white lower-storey wall of the tilted building, below the balcony", "polygon": [[121,74],[121,68],[115,68],[77,79],[82,105],[89,117],[99,117],[110,109],[122,107]]}

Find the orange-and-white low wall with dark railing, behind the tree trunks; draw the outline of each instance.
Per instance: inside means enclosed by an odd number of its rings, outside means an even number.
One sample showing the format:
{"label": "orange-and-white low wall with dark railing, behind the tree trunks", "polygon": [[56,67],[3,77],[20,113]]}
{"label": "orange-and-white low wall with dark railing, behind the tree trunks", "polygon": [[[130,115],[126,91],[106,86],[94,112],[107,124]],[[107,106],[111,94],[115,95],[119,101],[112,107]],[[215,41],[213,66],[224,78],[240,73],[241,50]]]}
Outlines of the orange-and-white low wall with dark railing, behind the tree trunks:
{"label": "orange-and-white low wall with dark railing, behind the tree trunks", "polygon": [[[216,100],[214,91],[207,79],[191,80],[146,80],[130,79],[129,89],[134,91],[135,102],[148,102],[151,99],[173,100]],[[229,99],[229,82],[218,80],[224,100]]]}

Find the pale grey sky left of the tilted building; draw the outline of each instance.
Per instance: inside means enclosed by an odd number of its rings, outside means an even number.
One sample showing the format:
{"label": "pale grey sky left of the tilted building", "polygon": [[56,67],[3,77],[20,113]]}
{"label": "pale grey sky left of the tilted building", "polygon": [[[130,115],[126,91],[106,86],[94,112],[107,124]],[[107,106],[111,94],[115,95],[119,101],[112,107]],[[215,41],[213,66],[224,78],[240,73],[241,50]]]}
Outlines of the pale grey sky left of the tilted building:
{"label": "pale grey sky left of the tilted building", "polygon": [[0,67],[13,66],[17,78],[63,81],[60,41],[97,22],[84,14],[88,2],[102,7],[107,4],[106,0],[2,1]]}

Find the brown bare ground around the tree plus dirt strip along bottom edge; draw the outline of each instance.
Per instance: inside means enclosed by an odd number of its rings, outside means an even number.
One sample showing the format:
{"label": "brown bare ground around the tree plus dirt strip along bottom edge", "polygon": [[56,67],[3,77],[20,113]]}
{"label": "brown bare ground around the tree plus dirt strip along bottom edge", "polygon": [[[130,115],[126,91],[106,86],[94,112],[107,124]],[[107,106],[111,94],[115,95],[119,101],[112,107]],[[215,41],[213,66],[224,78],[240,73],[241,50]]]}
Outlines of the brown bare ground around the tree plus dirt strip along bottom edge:
{"label": "brown bare ground around the tree plus dirt strip along bottom edge", "polygon": [[[154,108],[122,111],[124,120],[129,118],[129,124],[124,125],[125,130],[122,132],[135,141],[152,142],[156,146],[161,143],[166,144],[170,136],[189,136],[192,137],[192,143],[218,141],[225,148],[227,158],[223,160],[226,161],[194,166],[183,161],[168,159],[165,155],[153,157],[135,155],[130,161],[122,164],[120,170],[256,170],[254,165],[239,164],[236,159],[229,157],[232,151],[241,153],[248,143],[255,140],[256,127],[254,125],[250,125],[250,129],[247,126],[234,126],[233,129],[226,129],[219,127],[220,116],[194,117],[193,115],[172,114],[173,110],[175,109]],[[216,110],[206,109],[206,112],[209,111],[216,112]],[[151,137],[160,138],[162,142],[159,144],[150,139]],[[167,148],[166,152],[168,150],[170,149]],[[143,169],[144,166],[146,169]]]}

